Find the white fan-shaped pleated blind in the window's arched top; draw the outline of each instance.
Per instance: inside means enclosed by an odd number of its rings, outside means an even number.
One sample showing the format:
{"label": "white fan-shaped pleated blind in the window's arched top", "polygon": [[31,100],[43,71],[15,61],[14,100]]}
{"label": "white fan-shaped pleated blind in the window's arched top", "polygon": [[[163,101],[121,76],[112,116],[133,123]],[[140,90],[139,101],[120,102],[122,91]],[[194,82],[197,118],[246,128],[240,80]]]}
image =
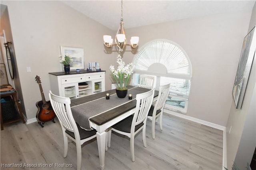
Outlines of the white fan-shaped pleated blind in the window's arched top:
{"label": "white fan-shaped pleated blind in the window's arched top", "polygon": [[186,53],[174,42],[168,40],[156,40],[147,43],[135,55],[134,70],[148,71],[148,68],[154,63],[160,63],[165,66],[165,74],[176,74],[179,76],[192,75],[190,61]]}

